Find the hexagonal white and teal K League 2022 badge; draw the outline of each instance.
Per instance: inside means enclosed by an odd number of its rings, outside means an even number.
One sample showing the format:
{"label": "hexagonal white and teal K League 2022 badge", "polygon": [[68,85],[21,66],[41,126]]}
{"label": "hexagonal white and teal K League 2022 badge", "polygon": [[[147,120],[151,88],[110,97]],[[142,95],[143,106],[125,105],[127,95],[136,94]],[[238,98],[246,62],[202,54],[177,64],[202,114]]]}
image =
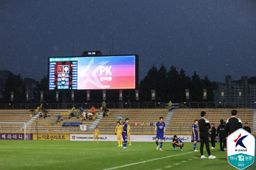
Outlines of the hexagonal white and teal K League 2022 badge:
{"label": "hexagonal white and teal K League 2022 badge", "polygon": [[228,163],[242,170],[254,163],[255,137],[240,128],[227,138]]}

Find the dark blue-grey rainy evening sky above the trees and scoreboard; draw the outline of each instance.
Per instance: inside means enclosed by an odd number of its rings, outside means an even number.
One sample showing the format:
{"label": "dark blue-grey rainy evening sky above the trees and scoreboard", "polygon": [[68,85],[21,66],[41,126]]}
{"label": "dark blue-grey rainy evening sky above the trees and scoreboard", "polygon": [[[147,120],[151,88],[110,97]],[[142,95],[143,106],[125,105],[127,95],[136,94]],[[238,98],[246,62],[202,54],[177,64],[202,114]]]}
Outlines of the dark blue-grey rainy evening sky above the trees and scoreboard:
{"label": "dark blue-grey rainy evening sky above the trees and scoreboard", "polygon": [[47,57],[83,51],[139,55],[210,81],[256,76],[255,0],[1,0],[0,70],[36,80]]}

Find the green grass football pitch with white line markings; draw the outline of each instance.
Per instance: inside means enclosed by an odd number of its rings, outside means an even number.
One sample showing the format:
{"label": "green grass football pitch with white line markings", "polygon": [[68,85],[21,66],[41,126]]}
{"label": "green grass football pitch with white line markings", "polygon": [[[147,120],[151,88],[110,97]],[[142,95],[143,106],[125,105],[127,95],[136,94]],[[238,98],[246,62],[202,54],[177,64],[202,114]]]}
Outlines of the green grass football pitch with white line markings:
{"label": "green grass football pitch with white line markings", "polygon": [[[129,144],[129,142],[128,142]],[[118,142],[0,140],[1,170],[235,170],[221,152],[219,143],[211,149],[216,159],[200,159],[193,152],[193,142],[186,142],[183,151],[171,142],[163,142],[163,151],[154,142],[132,142],[129,150],[117,147]],[[197,143],[197,150],[200,144]],[[210,146],[211,147],[211,146]],[[204,148],[204,155],[208,157]],[[252,164],[246,170],[255,170]]]}

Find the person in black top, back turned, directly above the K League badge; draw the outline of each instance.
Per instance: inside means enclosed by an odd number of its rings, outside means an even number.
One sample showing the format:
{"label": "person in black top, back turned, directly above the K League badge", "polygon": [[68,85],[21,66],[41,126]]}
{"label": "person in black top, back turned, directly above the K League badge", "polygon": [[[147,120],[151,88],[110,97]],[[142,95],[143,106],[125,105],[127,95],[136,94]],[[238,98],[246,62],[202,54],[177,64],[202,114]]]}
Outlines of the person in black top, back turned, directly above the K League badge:
{"label": "person in black top, back turned, directly above the K League badge", "polygon": [[235,132],[239,128],[243,128],[241,119],[237,118],[237,111],[231,111],[232,117],[229,118],[226,122],[226,134],[227,136],[233,132]]}

